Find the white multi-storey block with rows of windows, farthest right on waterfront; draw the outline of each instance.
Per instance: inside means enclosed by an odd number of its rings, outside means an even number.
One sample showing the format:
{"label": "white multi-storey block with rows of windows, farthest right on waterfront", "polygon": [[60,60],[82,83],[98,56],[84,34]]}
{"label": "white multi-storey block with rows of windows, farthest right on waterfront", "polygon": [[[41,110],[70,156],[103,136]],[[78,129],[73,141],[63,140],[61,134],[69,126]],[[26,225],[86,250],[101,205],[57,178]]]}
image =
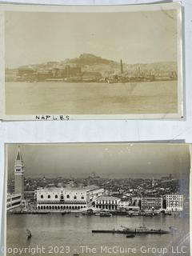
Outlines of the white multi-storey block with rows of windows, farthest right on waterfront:
{"label": "white multi-storey block with rows of windows, farthest right on waterfront", "polygon": [[164,195],[163,208],[168,211],[183,210],[183,195],[181,194]]}

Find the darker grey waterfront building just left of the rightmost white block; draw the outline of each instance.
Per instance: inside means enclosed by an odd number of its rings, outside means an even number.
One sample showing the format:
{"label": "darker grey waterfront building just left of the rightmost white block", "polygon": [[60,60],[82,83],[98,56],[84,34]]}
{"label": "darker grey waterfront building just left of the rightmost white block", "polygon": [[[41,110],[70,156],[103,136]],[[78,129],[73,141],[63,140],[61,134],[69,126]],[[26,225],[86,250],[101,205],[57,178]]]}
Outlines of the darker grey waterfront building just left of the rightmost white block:
{"label": "darker grey waterfront building just left of the rightmost white block", "polygon": [[162,209],[162,198],[141,198],[141,210]]}

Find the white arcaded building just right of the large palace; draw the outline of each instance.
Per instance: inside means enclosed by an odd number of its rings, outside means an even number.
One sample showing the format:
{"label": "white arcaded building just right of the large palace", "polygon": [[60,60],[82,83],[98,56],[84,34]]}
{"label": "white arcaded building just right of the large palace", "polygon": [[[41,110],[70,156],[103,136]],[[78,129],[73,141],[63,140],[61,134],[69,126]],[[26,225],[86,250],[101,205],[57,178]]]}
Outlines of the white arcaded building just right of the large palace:
{"label": "white arcaded building just right of the large palace", "polygon": [[95,199],[93,206],[101,210],[118,210],[120,198],[104,196]]}

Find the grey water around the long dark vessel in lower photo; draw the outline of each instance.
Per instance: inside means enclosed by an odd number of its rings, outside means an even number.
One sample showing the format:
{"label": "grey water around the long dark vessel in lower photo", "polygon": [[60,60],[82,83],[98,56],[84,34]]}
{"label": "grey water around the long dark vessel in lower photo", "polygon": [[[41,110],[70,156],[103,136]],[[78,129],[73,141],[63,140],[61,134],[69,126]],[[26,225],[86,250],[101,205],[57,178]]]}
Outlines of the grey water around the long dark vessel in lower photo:
{"label": "grey water around the long dark vessel in lower photo", "polygon": [[[126,238],[124,234],[92,234],[93,229],[120,229],[122,226],[135,228],[138,225],[145,224],[149,228],[162,228],[168,230],[169,226],[178,228],[177,234],[148,234],[137,235],[135,238]],[[26,240],[26,228],[32,233],[30,241]],[[186,254],[189,252],[189,219],[173,216],[155,216],[150,217],[132,217],[113,216],[110,218],[100,218],[97,216],[80,216],[75,218],[74,214],[47,214],[47,215],[8,215],[7,217],[7,247],[25,248],[30,246],[45,246],[45,253],[34,255],[51,255],[48,253],[51,245],[69,246],[70,253],[73,255],[77,250],[82,255],[79,246],[96,247],[96,254],[84,255],[105,255],[101,253],[101,246],[121,246],[136,248],[137,253],[129,255],[160,255],[158,252],[145,254],[141,252],[141,246],[166,248],[168,251],[164,255],[172,255],[171,246],[187,246]],[[62,247],[60,247],[62,248]],[[13,255],[13,254],[7,254]],[[32,254],[22,254],[32,255]],[[54,253],[52,255],[63,255]],[[65,254],[67,255],[67,254]],[[127,253],[108,254],[108,255],[127,255]],[[177,255],[177,254],[174,254]]]}

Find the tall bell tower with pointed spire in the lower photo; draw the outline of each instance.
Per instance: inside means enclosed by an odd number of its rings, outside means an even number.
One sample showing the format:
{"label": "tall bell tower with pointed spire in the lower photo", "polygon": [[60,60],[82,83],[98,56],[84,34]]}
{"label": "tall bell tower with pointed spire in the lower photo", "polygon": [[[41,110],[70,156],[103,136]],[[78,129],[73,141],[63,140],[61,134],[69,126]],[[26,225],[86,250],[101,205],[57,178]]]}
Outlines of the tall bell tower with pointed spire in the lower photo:
{"label": "tall bell tower with pointed spire in the lower photo", "polygon": [[19,147],[18,154],[14,162],[14,193],[21,194],[22,199],[24,199],[24,165]]}

